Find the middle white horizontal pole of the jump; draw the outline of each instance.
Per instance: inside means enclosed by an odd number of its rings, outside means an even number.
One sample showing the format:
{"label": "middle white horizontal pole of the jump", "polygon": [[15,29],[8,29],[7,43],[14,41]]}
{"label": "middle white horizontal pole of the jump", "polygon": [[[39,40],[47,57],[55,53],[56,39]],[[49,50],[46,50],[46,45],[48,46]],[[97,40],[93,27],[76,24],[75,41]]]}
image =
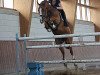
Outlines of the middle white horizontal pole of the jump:
{"label": "middle white horizontal pole of the jump", "polygon": [[100,46],[100,42],[94,43],[79,43],[79,44],[61,44],[61,45],[40,45],[40,46],[27,46],[27,49],[38,49],[38,48],[59,48],[59,47],[84,47],[84,46]]}

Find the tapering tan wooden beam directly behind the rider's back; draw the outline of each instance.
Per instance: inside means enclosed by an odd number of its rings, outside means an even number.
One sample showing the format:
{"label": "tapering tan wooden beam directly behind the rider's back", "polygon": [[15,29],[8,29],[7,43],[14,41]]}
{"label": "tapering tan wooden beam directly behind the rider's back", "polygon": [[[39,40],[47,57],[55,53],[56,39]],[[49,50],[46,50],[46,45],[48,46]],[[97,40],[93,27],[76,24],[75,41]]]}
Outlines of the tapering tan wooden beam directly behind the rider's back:
{"label": "tapering tan wooden beam directly behind the rider's back", "polygon": [[77,0],[61,0],[61,4],[73,33],[76,18]]}

